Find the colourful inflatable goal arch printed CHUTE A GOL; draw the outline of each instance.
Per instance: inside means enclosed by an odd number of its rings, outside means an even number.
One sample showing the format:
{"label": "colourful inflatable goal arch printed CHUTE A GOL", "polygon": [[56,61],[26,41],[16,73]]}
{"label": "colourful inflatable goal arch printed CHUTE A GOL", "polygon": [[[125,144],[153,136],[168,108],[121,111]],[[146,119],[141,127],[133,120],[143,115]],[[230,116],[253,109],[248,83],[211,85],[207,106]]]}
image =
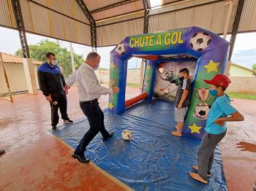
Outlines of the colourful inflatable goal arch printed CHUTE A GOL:
{"label": "colourful inflatable goal arch printed CHUTE A GOL", "polygon": [[[151,99],[158,64],[168,58],[172,62],[191,58],[196,61],[196,66],[192,79],[192,101],[183,133],[201,139],[208,109],[214,101],[208,95],[208,85],[203,79],[211,79],[215,74],[225,72],[228,49],[229,43],[225,39],[198,27],[127,36],[110,52],[110,86],[118,86],[120,92],[110,96],[109,109],[119,114],[138,101]],[[143,90],[141,95],[125,101],[127,63],[132,57],[146,59]]]}

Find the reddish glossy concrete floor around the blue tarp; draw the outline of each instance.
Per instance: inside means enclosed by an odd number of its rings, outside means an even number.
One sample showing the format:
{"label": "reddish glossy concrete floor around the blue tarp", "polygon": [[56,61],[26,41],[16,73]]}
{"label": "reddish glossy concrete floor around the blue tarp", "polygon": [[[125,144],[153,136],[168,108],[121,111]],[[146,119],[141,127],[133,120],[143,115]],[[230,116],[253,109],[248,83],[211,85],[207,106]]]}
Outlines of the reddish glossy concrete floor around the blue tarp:
{"label": "reddish glossy concrete floor around the blue tarp", "polygon": [[[14,103],[0,99],[0,147],[6,149],[0,157],[0,190],[129,190],[94,164],[73,160],[72,149],[48,133],[50,106],[41,93],[14,98]],[[108,106],[108,97],[99,104]],[[227,187],[252,190],[256,154],[241,152],[236,142],[256,143],[256,101],[235,100],[233,106],[245,121],[230,122],[221,144]],[[76,87],[69,91],[68,113],[72,120],[83,117]]]}

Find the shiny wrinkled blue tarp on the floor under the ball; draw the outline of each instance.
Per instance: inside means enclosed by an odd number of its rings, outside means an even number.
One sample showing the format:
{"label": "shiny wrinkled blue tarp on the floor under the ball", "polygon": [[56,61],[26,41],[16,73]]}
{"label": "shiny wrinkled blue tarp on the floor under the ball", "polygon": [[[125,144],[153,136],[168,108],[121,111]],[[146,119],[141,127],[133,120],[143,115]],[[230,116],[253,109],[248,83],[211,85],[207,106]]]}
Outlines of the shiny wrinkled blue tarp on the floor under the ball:
{"label": "shiny wrinkled blue tarp on the floor under the ball", "polygon": [[[173,112],[173,103],[160,100],[143,101],[121,115],[105,110],[105,127],[115,134],[104,142],[97,134],[86,157],[134,190],[227,190],[219,147],[208,184],[189,177],[200,142],[170,135]],[[88,129],[85,117],[52,133],[75,149]],[[132,131],[131,141],[121,138],[124,129]]]}

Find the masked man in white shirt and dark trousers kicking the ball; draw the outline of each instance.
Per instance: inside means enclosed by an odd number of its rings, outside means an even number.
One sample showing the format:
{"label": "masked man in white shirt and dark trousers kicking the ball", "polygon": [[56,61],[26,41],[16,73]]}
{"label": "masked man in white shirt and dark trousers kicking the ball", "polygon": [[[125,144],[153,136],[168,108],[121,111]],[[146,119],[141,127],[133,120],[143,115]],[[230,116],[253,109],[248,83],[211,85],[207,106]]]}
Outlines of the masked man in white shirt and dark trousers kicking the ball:
{"label": "masked man in white shirt and dark trousers kicking the ball", "polygon": [[80,100],[80,108],[83,114],[89,120],[90,129],[86,132],[75,149],[72,157],[79,160],[80,163],[89,163],[90,160],[84,157],[87,145],[94,139],[97,133],[102,133],[103,141],[107,140],[113,133],[108,133],[104,125],[104,114],[99,107],[98,99],[101,95],[108,95],[118,93],[118,87],[102,87],[99,85],[94,70],[99,69],[100,56],[97,52],[90,52],[87,55],[85,63],[83,63],[77,71],[75,71],[67,80],[65,90],[68,90],[71,85],[76,82],[78,87],[78,94]]}

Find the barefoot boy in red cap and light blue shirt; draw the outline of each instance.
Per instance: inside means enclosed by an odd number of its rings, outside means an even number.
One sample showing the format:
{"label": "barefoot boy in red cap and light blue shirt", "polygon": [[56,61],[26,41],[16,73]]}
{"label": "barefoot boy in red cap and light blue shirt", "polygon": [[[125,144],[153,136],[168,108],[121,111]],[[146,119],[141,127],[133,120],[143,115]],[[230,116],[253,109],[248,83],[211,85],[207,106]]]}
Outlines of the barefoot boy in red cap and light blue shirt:
{"label": "barefoot boy in red cap and light blue shirt", "polygon": [[189,172],[189,176],[207,184],[208,177],[211,176],[214,150],[227,133],[226,122],[243,121],[244,117],[230,105],[230,98],[225,94],[230,84],[228,77],[216,74],[213,79],[204,82],[210,85],[209,93],[216,96],[216,100],[208,114],[205,133],[197,152],[197,165],[192,166],[198,174]]}

